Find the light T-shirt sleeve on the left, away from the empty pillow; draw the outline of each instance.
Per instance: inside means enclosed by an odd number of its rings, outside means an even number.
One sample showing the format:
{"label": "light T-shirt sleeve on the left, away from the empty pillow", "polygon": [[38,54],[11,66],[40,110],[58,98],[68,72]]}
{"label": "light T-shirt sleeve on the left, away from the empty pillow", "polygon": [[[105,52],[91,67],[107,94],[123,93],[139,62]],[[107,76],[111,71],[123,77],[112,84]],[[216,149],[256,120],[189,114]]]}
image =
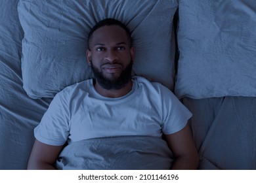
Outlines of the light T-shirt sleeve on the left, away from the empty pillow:
{"label": "light T-shirt sleeve on the left, away from the empty pillow", "polygon": [[65,144],[69,135],[67,99],[58,93],[47,112],[43,115],[41,122],[34,129],[35,139],[45,144],[61,146]]}

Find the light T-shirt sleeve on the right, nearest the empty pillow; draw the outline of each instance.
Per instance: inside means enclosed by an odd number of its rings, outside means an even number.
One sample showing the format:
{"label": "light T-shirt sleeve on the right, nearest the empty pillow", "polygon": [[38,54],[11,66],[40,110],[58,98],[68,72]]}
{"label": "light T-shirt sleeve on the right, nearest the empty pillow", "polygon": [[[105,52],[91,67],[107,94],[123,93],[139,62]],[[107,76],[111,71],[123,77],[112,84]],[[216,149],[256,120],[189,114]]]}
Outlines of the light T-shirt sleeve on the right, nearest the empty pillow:
{"label": "light T-shirt sleeve on the right, nearest the empty pillow", "polygon": [[192,113],[171,91],[163,90],[162,96],[163,124],[161,128],[165,135],[169,135],[183,129],[192,117]]}

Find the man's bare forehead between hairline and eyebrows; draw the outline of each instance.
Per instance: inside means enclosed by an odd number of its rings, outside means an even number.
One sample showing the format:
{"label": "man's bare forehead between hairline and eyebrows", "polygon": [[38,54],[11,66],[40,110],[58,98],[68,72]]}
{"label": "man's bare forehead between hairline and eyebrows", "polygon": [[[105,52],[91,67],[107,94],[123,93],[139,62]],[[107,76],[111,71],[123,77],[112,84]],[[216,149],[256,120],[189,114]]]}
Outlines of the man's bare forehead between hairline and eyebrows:
{"label": "man's bare forehead between hairline and eyebrows", "polygon": [[96,29],[91,38],[93,44],[102,42],[127,42],[128,38],[125,30],[118,25],[105,25]]}

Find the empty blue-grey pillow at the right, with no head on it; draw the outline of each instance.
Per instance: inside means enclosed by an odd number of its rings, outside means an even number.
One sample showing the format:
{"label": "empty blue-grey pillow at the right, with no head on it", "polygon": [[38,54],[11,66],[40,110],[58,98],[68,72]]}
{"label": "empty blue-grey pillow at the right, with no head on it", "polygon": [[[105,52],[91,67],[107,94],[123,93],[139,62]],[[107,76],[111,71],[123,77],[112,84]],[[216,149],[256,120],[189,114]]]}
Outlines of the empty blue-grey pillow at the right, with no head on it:
{"label": "empty blue-grey pillow at the right, with no head on it", "polygon": [[179,0],[179,98],[256,97],[255,16],[253,0]]}

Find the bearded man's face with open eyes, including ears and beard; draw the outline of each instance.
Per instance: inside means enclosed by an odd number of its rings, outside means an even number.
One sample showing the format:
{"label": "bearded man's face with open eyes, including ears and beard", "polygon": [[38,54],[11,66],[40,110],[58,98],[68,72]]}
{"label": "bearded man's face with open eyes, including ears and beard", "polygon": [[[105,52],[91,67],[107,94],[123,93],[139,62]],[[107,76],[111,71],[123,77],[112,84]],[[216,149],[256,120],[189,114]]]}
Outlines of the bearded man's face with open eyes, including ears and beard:
{"label": "bearded man's face with open eyes, including ears and beard", "polygon": [[117,25],[100,27],[93,33],[89,47],[87,60],[102,87],[119,89],[130,80],[134,49],[124,29]]}

